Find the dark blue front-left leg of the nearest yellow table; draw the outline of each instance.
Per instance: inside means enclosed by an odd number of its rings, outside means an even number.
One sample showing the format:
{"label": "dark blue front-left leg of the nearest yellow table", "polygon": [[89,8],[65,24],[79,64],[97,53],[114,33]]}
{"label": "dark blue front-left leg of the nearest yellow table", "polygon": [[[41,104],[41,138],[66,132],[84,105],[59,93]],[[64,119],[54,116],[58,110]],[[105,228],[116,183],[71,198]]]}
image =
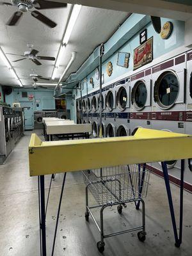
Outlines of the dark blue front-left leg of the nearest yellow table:
{"label": "dark blue front-left leg of the nearest yellow table", "polygon": [[[38,179],[39,180],[39,179]],[[45,180],[44,175],[40,176],[40,248],[41,248],[41,255],[46,256],[46,227],[45,227]]]}

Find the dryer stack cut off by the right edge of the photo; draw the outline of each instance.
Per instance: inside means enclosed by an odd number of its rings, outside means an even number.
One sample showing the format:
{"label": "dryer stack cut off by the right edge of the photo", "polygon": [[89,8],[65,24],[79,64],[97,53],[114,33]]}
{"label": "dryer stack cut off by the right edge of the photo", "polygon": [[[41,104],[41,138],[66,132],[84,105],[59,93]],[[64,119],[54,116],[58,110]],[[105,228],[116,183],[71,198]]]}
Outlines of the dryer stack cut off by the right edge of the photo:
{"label": "dryer stack cut off by the right edge of the photo", "polygon": [[[187,79],[186,79],[186,134],[192,134],[192,51],[187,53]],[[186,186],[192,191],[192,159],[185,162]]]}

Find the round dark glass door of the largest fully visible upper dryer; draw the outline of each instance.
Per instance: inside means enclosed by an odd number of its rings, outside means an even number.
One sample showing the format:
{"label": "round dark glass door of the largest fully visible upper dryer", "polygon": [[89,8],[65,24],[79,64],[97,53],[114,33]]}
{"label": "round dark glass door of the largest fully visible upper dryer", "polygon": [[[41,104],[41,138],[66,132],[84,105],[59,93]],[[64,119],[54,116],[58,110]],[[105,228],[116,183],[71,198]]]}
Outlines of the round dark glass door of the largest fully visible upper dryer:
{"label": "round dark glass door of the largest fully visible upper dryer", "polygon": [[159,108],[169,109],[179,95],[179,79],[172,71],[166,71],[158,77],[154,86],[154,100]]}

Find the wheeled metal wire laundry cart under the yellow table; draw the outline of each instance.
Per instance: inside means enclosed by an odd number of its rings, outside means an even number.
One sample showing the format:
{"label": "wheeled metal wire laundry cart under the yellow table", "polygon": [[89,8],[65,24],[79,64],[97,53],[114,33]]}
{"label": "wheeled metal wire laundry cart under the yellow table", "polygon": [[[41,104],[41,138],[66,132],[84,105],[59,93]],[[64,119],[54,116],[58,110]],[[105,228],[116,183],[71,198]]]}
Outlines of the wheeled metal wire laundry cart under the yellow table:
{"label": "wheeled metal wire laundry cart under the yellow table", "polygon": [[[86,184],[86,212],[85,219],[91,215],[100,232],[100,241],[97,243],[99,252],[104,251],[104,239],[127,232],[138,232],[138,239],[145,241],[145,202],[147,196],[150,172],[145,168],[146,164],[119,165],[115,167],[84,170],[84,184]],[[88,191],[92,193],[96,205],[88,204]],[[117,211],[122,214],[126,203],[134,202],[136,209],[142,204],[142,225],[128,230],[118,231],[112,234],[104,234],[103,211],[106,207],[117,205]],[[92,209],[100,208],[100,225],[93,216]]]}

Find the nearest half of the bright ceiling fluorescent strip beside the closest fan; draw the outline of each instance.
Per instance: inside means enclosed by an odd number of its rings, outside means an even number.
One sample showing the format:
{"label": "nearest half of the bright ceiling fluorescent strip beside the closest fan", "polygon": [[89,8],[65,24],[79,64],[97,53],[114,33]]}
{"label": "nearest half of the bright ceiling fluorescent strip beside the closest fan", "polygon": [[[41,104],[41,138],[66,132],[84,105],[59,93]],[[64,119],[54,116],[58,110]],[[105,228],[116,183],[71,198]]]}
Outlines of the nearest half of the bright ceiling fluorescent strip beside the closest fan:
{"label": "nearest half of the bright ceiling fluorescent strip beside the closest fan", "polygon": [[70,15],[70,19],[68,21],[68,26],[67,26],[67,29],[65,31],[65,35],[63,37],[63,44],[64,45],[67,45],[68,44],[68,40],[70,38],[70,35],[72,33],[72,30],[76,24],[76,20],[77,20],[77,17],[79,15],[79,12],[81,10],[81,4],[75,4],[74,7],[73,7],[73,10],[72,10],[72,13]]}

